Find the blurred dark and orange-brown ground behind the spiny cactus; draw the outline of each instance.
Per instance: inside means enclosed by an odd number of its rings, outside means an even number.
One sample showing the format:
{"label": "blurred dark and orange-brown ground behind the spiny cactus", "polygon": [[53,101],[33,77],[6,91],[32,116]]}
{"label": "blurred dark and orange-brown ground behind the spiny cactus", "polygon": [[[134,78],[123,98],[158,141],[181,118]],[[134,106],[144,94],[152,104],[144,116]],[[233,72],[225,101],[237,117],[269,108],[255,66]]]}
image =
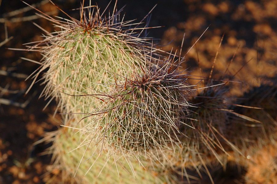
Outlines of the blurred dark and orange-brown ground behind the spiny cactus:
{"label": "blurred dark and orange-brown ground behind the spiny cactus", "polygon": [[[25,2],[51,16],[67,18],[48,0]],[[80,7],[79,0],[53,2],[79,19],[79,10],[72,10]],[[96,3],[101,12],[109,2],[92,1],[92,4]],[[35,83],[25,95],[33,82],[31,78],[25,79],[39,65],[22,58],[39,62],[42,56],[38,52],[7,49],[26,49],[23,44],[43,39],[44,31],[33,22],[49,32],[54,28],[50,21],[35,14],[38,11],[20,0],[0,0],[0,3],[0,183],[41,184],[50,178],[50,183],[60,183],[62,177],[58,170],[48,172],[51,155],[43,154],[50,144],[33,145],[42,139],[44,132],[57,130],[61,124],[59,115],[53,117],[57,104],[55,101],[48,104],[49,99],[43,97],[38,99],[44,87],[40,85],[42,81]],[[112,0],[108,10],[113,10],[114,3]],[[85,6],[88,4],[86,0]],[[234,85],[232,95],[240,96],[250,86],[259,86],[265,77],[276,77],[277,0],[118,0],[117,7],[119,10],[125,6],[124,20],[139,22],[156,4],[149,27],[162,27],[148,30],[148,36],[156,38],[162,50],[170,52],[173,48],[175,52],[180,51],[185,32],[181,56],[186,56],[183,67],[192,71],[191,75],[209,76],[224,34],[212,78],[224,75],[235,54],[226,77],[231,78],[242,68],[233,80],[243,83]],[[245,182],[237,173],[228,177],[229,183]]]}

